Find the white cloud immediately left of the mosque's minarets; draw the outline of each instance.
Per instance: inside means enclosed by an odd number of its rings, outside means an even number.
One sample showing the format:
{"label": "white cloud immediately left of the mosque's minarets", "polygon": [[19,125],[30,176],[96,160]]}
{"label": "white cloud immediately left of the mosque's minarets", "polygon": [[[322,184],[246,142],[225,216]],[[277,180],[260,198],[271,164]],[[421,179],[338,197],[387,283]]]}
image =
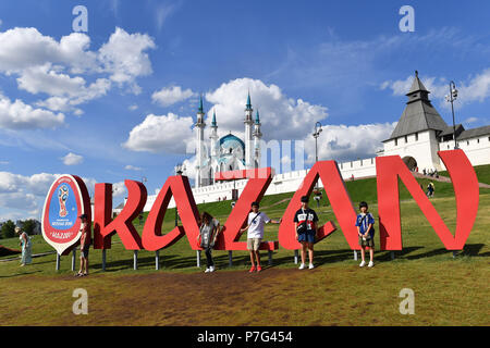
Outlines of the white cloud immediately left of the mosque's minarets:
{"label": "white cloud immediately left of the mosque's minarets", "polygon": [[193,123],[192,117],[179,117],[171,112],[161,116],[149,114],[130,132],[123,147],[133,151],[185,153],[186,142],[193,137]]}

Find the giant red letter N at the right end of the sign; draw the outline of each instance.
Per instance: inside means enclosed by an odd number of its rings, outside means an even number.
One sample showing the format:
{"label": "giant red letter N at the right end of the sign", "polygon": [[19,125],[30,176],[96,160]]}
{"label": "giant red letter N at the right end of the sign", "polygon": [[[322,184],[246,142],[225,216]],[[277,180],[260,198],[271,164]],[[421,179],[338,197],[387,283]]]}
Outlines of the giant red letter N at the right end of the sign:
{"label": "giant red letter N at the right end of the sign", "polygon": [[453,182],[456,196],[456,233],[453,237],[436,208],[399,156],[376,159],[380,244],[382,250],[402,250],[399,177],[448,250],[463,249],[478,212],[479,187],[475,170],[463,150],[438,152]]}

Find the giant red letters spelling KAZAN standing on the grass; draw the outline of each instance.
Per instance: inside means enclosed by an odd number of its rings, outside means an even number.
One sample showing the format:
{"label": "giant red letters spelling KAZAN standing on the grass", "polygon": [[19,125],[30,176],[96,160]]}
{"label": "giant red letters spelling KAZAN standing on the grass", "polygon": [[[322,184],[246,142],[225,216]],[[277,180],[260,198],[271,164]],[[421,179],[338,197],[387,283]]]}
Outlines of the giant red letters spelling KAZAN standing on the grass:
{"label": "giant red letters spelling KAZAN standing on the grass", "polygon": [[[406,186],[416,203],[426,215],[430,225],[448,250],[462,250],[475,223],[479,184],[476,173],[462,150],[439,151],[451,176],[456,198],[456,231],[454,235],[424,194],[417,181],[411,174],[399,156],[379,157],[376,159],[378,215],[381,250],[402,250],[402,228],[400,217],[399,178]],[[217,173],[217,181],[248,178],[248,182],[236,201],[230,216],[224,223],[223,232],[215,245],[218,250],[246,250],[246,243],[238,241],[240,228],[246,224],[253,201],[260,201],[272,181],[270,167]],[[305,176],[302,185],[290,201],[279,226],[278,241],[262,241],[260,249],[275,250],[281,245],[285,249],[299,249],[295,239],[294,213],[301,206],[301,197],[309,196],[318,179],[321,178],[326,194],[331,203],[339,227],[345,236],[351,249],[358,250],[356,212],[345,188],[335,161],[315,163]],[[82,183],[83,184],[83,183]],[[199,213],[186,176],[170,176],[161,188],[143,228],[136,232],[133,220],[142,212],[146,199],[146,188],[142,183],[125,181],[128,191],[124,209],[115,217],[112,212],[112,185],[96,184],[94,203],[94,248],[109,249],[111,237],[118,234],[124,247],[130,250],[159,250],[168,248],[184,235],[192,249],[199,250],[197,235],[199,233]],[[84,188],[84,190],[86,190]],[[162,232],[162,222],[171,198],[174,198],[182,221],[181,226]],[[49,198],[49,197],[48,197]],[[332,221],[319,227],[321,240],[336,229]]]}

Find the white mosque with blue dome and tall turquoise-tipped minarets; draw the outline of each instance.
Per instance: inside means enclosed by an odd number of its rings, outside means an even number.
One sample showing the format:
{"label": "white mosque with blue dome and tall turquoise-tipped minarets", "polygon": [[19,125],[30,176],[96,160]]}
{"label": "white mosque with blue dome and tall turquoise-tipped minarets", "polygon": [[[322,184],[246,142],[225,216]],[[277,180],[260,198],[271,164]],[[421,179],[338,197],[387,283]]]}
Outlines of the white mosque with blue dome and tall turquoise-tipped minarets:
{"label": "white mosque with blue dome and tall turquoise-tipped minarets", "polygon": [[245,170],[260,167],[260,119],[257,111],[253,120],[254,109],[252,108],[250,94],[248,92],[245,109],[245,141],[228,134],[221,138],[218,137],[218,123],[216,110],[212,113],[211,134],[209,136],[209,146],[204,141],[204,122],[203,97],[200,97],[199,109],[197,111],[196,132],[196,182],[195,187],[209,186],[215,184],[215,173],[235,170]]}

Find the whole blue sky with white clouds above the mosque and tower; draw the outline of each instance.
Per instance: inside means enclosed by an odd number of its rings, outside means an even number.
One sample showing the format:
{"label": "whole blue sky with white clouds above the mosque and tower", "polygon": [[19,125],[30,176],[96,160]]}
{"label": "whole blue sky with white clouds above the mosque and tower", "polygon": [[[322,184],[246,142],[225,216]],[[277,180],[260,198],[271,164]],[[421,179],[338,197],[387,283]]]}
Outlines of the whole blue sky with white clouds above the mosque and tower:
{"label": "whole blue sky with white clouds above the mosque and tower", "polygon": [[[74,34],[75,5],[88,32]],[[402,5],[415,32],[402,33]],[[2,1],[0,221],[38,217],[56,174],[152,194],[192,164],[199,94],[220,134],[243,133],[247,90],[266,140],[323,124],[320,159],[375,154],[414,71],[451,123],[490,124],[490,3],[471,1]],[[28,44],[26,44],[28,42]],[[191,153],[186,153],[191,152]],[[191,175],[191,174],[189,174]]]}

